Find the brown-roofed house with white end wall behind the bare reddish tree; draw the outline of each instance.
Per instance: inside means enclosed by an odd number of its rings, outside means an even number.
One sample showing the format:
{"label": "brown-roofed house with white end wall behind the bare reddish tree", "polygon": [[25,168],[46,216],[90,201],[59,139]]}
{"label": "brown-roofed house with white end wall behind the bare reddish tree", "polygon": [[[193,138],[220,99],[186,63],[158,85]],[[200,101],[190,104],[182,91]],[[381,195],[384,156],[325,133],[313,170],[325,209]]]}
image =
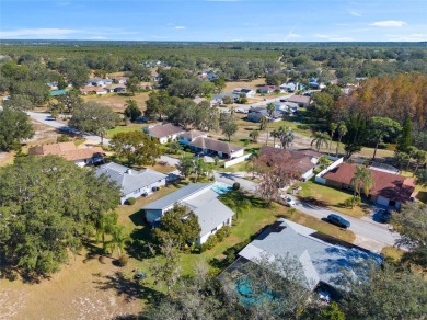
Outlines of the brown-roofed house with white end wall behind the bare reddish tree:
{"label": "brown-roofed house with white end wall behind the bare reddish tree", "polygon": [[275,161],[277,159],[280,161],[281,165],[286,165],[289,170],[295,170],[302,181],[305,181],[313,175],[319,158],[321,157],[321,153],[311,149],[292,150],[269,146],[263,146],[261,148],[259,156],[263,155],[267,157],[268,161]]}

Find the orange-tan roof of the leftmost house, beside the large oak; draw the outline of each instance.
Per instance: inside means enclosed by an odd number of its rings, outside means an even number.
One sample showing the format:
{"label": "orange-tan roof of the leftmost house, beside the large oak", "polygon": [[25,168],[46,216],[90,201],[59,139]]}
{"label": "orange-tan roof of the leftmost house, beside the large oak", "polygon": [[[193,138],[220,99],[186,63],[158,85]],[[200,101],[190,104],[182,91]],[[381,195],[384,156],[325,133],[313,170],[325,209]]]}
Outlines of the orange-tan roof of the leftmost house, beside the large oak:
{"label": "orange-tan roof of the leftmost house, beside the large oak", "polygon": [[104,153],[101,147],[78,149],[73,142],[60,142],[32,147],[30,156],[59,156],[69,161],[92,158],[95,153]]}

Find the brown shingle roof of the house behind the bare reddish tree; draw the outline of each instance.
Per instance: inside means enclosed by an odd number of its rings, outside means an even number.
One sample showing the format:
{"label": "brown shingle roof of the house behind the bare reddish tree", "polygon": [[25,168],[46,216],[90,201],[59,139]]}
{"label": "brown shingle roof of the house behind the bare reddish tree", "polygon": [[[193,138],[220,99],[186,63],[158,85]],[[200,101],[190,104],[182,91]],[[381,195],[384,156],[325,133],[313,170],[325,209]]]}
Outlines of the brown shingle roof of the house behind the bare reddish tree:
{"label": "brown shingle roof of the house behind the bare reddish tree", "polygon": [[307,149],[286,150],[286,149],[273,148],[269,146],[263,146],[259,150],[259,155],[266,155],[266,156],[280,155],[281,157],[279,159],[287,160],[281,163],[282,165],[287,165],[289,167],[289,169],[293,169],[300,174],[304,174],[305,172],[308,172],[309,170],[315,167],[315,164],[311,162],[311,158],[315,157],[314,155],[320,155],[320,153]]}

